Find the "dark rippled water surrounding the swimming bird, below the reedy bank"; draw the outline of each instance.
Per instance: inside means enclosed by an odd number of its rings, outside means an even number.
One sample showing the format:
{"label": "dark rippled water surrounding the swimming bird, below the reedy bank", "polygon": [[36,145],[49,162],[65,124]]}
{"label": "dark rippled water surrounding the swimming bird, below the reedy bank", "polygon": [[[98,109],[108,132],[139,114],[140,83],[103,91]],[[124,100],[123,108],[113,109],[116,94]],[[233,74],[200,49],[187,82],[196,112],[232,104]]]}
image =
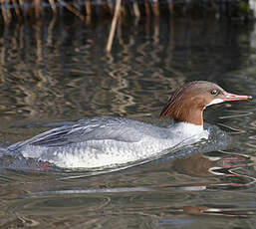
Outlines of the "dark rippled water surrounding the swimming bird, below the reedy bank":
{"label": "dark rippled water surrounding the swimming bird, below the reedy bank", "polygon": [[[187,81],[256,96],[253,25],[123,21],[106,55],[109,29],[78,20],[0,29],[2,144],[94,115],[155,122]],[[2,167],[0,227],[255,228],[255,104],[207,108],[205,120],[232,136],[225,149],[107,173]]]}

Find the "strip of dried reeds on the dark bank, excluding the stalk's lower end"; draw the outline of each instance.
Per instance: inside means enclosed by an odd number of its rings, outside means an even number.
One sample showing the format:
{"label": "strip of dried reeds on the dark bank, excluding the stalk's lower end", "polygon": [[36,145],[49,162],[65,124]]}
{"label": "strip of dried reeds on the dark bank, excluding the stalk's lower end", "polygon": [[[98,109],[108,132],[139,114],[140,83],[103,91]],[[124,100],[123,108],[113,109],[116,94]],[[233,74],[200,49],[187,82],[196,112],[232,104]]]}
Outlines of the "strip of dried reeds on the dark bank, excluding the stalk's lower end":
{"label": "strip of dried reeds on the dark bank, excluding the stalk's lower end", "polygon": [[[73,14],[81,20],[112,17],[119,0],[0,0],[1,21],[40,20],[45,15],[54,17]],[[229,17],[249,19],[249,0],[121,0],[122,16],[191,16]]]}

